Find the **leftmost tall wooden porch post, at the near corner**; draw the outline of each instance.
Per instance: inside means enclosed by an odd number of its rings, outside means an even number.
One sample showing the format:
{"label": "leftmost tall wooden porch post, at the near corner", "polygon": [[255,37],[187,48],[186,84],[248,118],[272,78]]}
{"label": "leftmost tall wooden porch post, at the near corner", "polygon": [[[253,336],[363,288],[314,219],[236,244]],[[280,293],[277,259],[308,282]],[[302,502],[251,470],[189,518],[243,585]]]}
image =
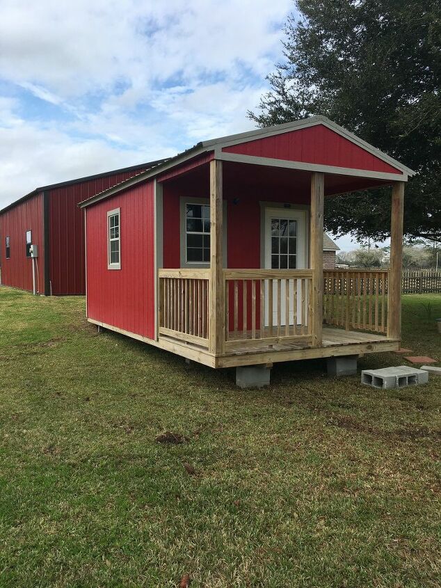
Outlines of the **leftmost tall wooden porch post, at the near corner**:
{"label": "leftmost tall wooden porch post, at the near corner", "polygon": [[218,355],[223,352],[225,315],[223,292],[223,196],[222,161],[210,161],[210,294],[209,294],[209,349]]}

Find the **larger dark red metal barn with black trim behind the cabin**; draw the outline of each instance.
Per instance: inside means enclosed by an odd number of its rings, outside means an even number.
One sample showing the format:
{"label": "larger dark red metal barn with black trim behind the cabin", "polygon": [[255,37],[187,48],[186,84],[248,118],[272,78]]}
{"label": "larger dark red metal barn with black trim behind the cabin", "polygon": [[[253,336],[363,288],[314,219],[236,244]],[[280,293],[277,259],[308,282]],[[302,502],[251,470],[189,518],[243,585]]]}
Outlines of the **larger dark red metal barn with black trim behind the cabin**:
{"label": "larger dark red metal barn with black trim behind the cabin", "polygon": [[[163,160],[161,160],[163,161]],[[78,203],[156,164],[141,164],[42,186],[0,211],[1,283],[32,291],[29,245],[40,294],[84,294],[84,223]]]}

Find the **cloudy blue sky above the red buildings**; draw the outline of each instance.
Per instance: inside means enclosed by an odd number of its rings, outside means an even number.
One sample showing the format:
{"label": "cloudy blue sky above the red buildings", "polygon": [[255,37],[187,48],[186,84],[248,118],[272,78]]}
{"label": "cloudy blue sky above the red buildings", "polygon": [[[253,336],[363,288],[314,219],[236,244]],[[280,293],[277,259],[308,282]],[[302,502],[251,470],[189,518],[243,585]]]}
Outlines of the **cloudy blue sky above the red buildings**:
{"label": "cloudy blue sky above the red buildings", "polygon": [[[0,209],[251,129],[292,0],[0,0]],[[339,241],[353,248],[350,239]]]}

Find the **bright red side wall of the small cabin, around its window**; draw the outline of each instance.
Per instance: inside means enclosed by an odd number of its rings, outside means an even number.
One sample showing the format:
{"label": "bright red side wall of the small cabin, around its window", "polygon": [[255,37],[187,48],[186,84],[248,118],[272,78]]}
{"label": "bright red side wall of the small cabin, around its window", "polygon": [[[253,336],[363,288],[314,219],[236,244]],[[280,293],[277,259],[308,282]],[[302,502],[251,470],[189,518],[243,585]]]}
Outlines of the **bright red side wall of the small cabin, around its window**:
{"label": "bright red side wall of the small cabin, around its window", "polygon": [[[86,209],[88,317],[154,339],[154,184]],[[107,212],[121,209],[121,269],[107,269]]]}

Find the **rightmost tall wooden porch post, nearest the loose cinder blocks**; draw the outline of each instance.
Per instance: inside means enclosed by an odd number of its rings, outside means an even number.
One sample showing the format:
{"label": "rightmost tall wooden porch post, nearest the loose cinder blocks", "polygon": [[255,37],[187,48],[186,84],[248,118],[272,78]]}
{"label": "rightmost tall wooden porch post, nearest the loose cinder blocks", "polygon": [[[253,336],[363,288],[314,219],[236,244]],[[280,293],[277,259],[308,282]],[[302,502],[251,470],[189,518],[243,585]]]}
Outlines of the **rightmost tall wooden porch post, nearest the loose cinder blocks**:
{"label": "rightmost tall wooden porch post, nearest the loose cinder blocks", "polygon": [[387,337],[401,339],[401,268],[403,266],[404,182],[392,186]]}

